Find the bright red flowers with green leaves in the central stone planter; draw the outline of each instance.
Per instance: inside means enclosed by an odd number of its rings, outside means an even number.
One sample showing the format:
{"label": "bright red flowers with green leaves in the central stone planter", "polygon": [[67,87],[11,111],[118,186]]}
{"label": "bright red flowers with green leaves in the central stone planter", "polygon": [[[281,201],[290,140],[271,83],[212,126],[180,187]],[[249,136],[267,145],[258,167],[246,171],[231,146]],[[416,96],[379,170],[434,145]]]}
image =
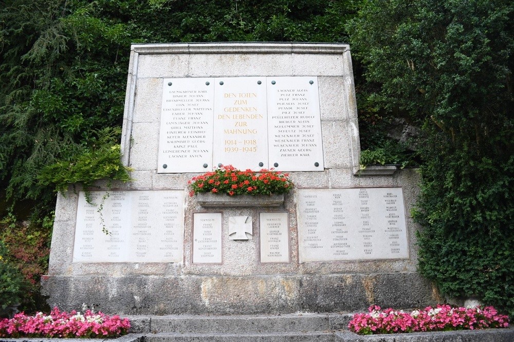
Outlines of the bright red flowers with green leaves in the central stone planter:
{"label": "bright red flowers with green leaves in the central stone planter", "polygon": [[237,170],[232,165],[222,166],[214,171],[195,176],[188,184],[191,196],[201,192],[225,193],[234,195],[273,195],[283,194],[292,189],[289,174],[262,169],[258,173],[248,169]]}

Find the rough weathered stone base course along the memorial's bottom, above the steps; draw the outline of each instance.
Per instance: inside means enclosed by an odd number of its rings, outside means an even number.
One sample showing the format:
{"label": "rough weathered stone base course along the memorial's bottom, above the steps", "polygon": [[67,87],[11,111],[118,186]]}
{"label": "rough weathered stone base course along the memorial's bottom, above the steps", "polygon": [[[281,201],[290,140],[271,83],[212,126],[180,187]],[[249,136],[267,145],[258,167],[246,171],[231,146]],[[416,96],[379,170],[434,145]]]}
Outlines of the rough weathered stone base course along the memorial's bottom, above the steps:
{"label": "rough weathered stone base course along the memorial's bottom, above the steps", "polygon": [[[416,273],[304,276],[49,276],[49,304],[118,314],[259,314],[362,311],[371,304],[434,304]],[[391,299],[389,299],[391,298]]]}

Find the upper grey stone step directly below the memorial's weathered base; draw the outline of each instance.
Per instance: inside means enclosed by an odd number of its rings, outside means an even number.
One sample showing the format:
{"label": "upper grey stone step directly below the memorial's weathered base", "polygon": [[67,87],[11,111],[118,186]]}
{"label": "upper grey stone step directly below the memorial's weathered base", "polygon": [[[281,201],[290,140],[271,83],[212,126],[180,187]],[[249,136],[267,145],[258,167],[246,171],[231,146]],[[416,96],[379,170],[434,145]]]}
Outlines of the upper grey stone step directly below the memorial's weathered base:
{"label": "upper grey stone step directly below the memorial's weathered base", "polygon": [[281,333],[345,329],[350,314],[132,316],[136,333]]}

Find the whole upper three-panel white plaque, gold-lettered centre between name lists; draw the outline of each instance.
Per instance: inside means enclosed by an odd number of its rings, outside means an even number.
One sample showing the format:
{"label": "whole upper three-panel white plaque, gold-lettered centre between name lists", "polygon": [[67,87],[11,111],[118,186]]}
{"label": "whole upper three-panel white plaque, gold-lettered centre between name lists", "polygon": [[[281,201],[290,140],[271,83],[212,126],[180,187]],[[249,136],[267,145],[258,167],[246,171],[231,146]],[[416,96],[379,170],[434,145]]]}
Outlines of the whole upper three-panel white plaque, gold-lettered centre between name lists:
{"label": "whole upper three-panel white plaque, gold-lettered centre between name lists", "polygon": [[157,172],[323,171],[318,77],[164,78],[162,87]]}

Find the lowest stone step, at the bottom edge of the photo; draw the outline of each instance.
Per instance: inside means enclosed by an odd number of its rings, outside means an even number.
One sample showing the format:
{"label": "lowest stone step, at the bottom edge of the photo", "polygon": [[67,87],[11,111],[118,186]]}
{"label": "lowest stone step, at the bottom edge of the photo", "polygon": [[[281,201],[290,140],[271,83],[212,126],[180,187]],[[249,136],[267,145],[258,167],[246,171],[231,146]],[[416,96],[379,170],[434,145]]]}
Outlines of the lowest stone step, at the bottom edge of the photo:
{"label": "lowest stone step, at the bottom edge of the photo", "polygon": [[333,332],[156,333],[144,342],[334,342]]}

